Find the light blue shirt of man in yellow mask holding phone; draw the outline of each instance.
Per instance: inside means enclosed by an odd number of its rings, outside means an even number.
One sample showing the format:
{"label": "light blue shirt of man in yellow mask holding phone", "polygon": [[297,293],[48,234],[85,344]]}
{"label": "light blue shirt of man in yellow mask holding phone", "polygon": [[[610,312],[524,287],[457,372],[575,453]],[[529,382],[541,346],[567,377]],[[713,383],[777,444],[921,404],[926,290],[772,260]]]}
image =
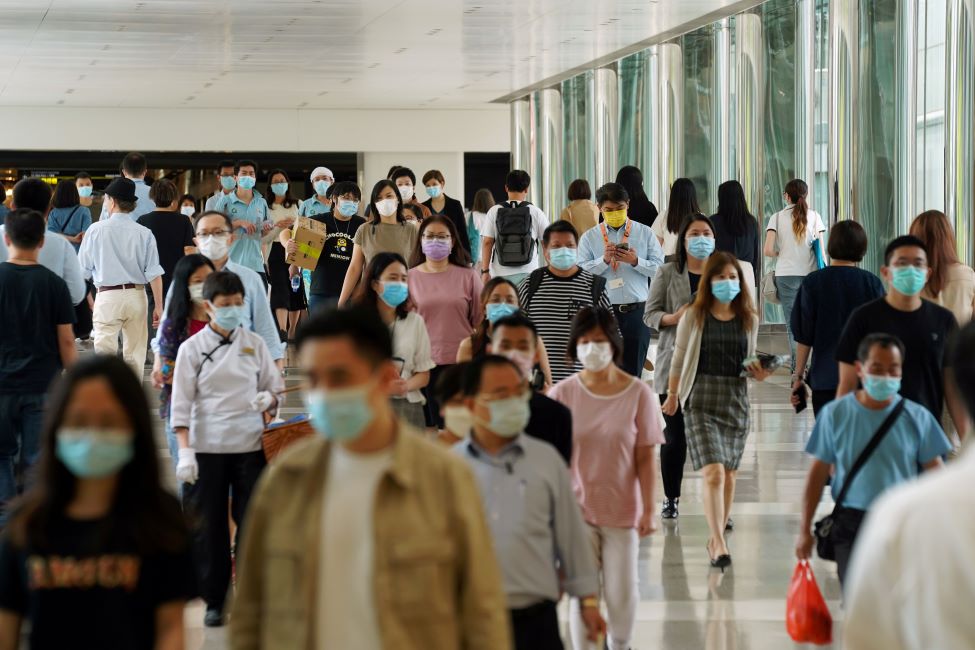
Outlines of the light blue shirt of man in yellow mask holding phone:
{"label": "light blue shirt of man in yellow mask holding phone", "polygon": [[[614,305],[626,305],[633,302],[646,302],[650,297],[650,285],[647,279],[652,279],[657,269],[664,263],[664,251],[656,235],[647,226],[627,219],[620,228],[606,227],[606,237],[613,244],[623,241],[626,228],[632,224],[628,243],[630,249],[636,252],[636,266],[620,262],[614,271],[613,267],[603,259],[605,241],[603,229],[597,224],[590,228],[579,239],[579,266],[593,275],[606,278],[606,293],[609,301]],[[620,284],[622,280],[622,285]]]}

